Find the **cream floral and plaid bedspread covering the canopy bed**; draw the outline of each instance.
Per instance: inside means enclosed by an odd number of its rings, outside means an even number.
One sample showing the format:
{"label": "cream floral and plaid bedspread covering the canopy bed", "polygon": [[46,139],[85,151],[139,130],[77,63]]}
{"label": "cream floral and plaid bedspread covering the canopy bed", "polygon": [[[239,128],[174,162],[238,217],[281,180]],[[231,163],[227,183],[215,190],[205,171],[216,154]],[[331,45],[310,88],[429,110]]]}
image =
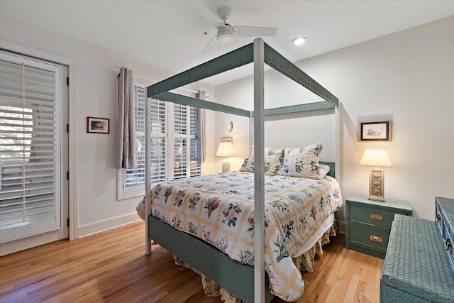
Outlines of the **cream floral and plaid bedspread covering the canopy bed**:
{"label": "cream floral and plaid bedspread covering the canopy bed", "polygon": [[[233,260],[254,264],[254,174],[224,172],[153,187],[152,214],[218,247]],[[265,176],[265,269],[272,293],[293,301],[304,292],[292,258],[301,243],[342,205],[336,180]]]}

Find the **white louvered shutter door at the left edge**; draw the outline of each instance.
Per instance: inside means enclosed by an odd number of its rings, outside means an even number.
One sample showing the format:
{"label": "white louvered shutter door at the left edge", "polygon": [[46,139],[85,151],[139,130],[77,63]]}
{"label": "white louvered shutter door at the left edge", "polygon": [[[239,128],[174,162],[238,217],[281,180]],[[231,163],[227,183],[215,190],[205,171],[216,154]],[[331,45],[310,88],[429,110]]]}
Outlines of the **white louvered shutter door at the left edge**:
{"label": "white louvered shutter door at the left edge", "polygon": [[66,77],[65,66],[0,53],[1,254],[68,237]]}

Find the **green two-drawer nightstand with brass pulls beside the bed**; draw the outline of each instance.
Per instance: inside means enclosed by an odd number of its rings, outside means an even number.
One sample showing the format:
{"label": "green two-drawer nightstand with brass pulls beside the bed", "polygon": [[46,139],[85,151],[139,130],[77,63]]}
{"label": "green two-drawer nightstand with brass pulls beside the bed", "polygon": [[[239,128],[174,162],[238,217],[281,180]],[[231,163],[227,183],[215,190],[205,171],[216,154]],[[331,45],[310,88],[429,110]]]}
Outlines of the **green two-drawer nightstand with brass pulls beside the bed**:
{"label": "green two-drawer nightstand with brass pulls beside the bed", "polygon": [[350,194],[345,201],[345,247],[384,259],[395,214],[412,216],[413,209],[407,201],[377,202]]}

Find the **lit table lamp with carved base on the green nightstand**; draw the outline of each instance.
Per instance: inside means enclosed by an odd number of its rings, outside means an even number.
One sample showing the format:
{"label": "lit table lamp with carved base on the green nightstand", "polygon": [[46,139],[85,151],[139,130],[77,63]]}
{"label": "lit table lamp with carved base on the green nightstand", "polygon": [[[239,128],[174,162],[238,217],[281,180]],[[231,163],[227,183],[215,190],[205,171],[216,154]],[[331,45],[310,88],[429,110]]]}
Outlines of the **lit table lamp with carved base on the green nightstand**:
{"label": "lit table lamp with carved base on the green nightstand", "polygon": [[360,165],[373,166],[369,172],[369,197],[367,199],[385,202],[384,199],[384,170],[378,167],[394,167],[389,159],[385,149],[375,147],[374,149],[366,149],[362,155]]}

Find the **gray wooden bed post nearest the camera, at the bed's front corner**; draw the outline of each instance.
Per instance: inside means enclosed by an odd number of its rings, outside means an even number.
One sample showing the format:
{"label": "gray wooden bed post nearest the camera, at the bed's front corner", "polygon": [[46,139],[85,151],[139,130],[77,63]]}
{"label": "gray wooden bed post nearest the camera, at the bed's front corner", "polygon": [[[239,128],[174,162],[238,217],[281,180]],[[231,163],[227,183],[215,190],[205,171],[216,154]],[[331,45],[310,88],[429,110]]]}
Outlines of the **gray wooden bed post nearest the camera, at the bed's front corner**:
{"label": "gray wooden bed post nearest the camera, at the bed's front corner", "polygon": [[[265,43],[261,38],[254,40],[254,161],[265,159]],[[254,170],[254,302],[265,302],[265,177],[263,165]]]}

